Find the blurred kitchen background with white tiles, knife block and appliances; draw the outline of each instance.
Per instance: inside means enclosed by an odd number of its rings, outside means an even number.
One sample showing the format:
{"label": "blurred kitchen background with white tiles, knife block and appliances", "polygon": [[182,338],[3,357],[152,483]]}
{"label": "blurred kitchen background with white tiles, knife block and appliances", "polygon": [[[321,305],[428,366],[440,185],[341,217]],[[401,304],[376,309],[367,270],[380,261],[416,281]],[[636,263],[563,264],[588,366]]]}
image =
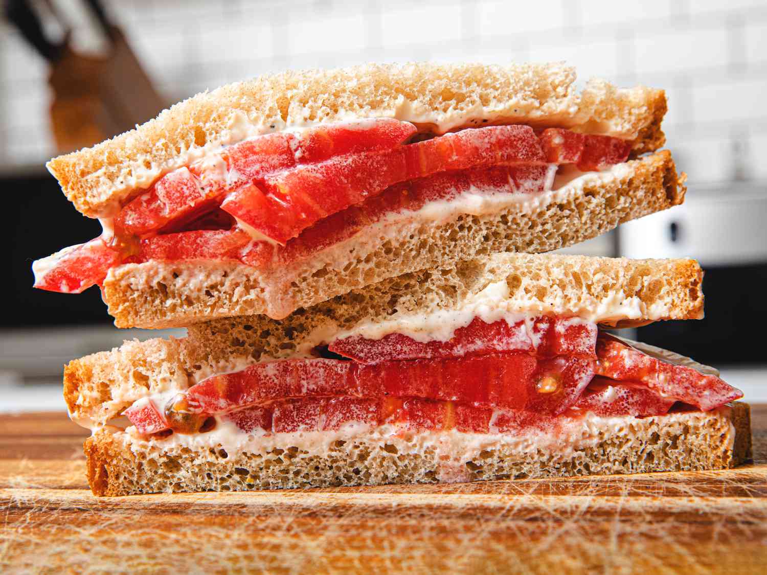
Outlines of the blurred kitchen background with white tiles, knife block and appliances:
{"label": "blurred kitchen background with white tiles, knife block and appliances", "polygon": [[64,199],[47,159],[231,81],[414,60],[566,60],[581,81],[663,87],[668,147],[689,174],[685,205],[568,251],[700,259],[706,320],[634,335],[712,363],[746,399],[767,401],[763,0],[5,0],[0,32],[0,186],[11,202],[0,411],[64,409],[67,360],[126,338],[183,336],[115,329],[95,288],[32,290],[32,260],[100,232]]}

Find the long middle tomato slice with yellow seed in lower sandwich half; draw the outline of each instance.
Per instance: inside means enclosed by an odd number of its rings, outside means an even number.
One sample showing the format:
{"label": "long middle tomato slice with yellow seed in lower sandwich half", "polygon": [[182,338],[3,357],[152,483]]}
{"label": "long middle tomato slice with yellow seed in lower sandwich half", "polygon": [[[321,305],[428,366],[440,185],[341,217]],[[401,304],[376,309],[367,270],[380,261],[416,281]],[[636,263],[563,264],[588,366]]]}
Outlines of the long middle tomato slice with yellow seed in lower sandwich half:
{"label": "long middle tomato slice with yellow seed in lower sandwich half", "polygon": [[340,360],[278,360],[213,376],[187,392],[207,414],[306,396],[420,397],[561,412],[593,376],[593,360],[542,360],[495,353],[463,360],[414,360],[362,365]]}

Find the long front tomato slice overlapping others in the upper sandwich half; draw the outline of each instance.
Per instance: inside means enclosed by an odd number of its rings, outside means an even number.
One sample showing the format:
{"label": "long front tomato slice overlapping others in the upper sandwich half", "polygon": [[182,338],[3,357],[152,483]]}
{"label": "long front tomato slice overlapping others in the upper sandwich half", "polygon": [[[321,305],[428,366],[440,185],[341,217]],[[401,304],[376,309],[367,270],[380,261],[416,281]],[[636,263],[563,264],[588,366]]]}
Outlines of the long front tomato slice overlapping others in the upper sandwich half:
{"label": "long front tomato slice overlapping others in the upper sandwich half", "polygon": [[[528,126],[463,130],[384,151],[333,156],[268,174],[229,196],[222,209],[282,245],[302,230],[399,182],[499,163],[545,163]],[[545,166],[540,166],[545,172]],[[525,177],[525,182],[528,178]]]}

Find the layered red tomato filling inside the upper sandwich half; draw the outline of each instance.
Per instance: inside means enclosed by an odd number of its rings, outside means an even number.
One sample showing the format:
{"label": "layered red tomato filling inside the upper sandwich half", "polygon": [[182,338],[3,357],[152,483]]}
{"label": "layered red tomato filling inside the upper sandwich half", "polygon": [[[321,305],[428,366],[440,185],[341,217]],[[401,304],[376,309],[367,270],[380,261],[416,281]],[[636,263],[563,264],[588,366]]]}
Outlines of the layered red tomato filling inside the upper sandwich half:
{"label": "layered red tomato filling inside the upper sandwich half", "polygon": [[624,163],[632,144],[525,125],[422,137],[413,124],[379,119],[225,147],[162,176],[99,238],[35,262],[35,287],[80,292],[110,268],[145,261],[281,268],[403,215],[551,192]]}

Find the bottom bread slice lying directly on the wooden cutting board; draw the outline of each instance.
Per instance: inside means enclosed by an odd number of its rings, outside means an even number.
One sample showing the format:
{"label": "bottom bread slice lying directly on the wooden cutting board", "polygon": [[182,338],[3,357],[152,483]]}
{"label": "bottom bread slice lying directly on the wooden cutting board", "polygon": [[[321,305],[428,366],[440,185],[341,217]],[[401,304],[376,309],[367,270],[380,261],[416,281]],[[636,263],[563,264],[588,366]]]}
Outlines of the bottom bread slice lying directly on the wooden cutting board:
{"label": "bottom bread slice lying directly on the wooden cutting board", "polygon": [[751,458],[749,406],[740,402],[705,413],[586,416],[551,436],[385,429],[297,435],[277,433],[232,449],[205,434],[154,442],[97,432],[85,442],[88,483],[97,495],[243,491],[699,471]]}

